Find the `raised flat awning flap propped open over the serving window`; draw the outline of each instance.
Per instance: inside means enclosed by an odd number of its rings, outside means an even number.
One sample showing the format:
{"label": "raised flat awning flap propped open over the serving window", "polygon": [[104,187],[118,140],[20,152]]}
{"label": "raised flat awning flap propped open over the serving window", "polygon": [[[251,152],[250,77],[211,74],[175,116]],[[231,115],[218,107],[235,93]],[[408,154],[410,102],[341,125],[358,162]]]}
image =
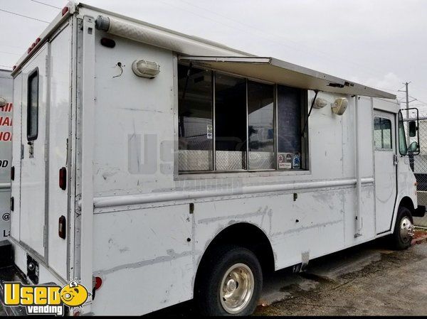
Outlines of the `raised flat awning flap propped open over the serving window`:
{"label": "raised flat awning flap propped open over the serving window", "polygon": [[396,95],[376,90],[373,87],[333,77],[322,72],[307,69],[275,58],[263,57],[221,57],[180,55],[180,61],[194,66],[208,67],[214,70],[231,72],[244,77],[275,82],[307,90],[320,90],[340,94],[362,95],[396,99]]}

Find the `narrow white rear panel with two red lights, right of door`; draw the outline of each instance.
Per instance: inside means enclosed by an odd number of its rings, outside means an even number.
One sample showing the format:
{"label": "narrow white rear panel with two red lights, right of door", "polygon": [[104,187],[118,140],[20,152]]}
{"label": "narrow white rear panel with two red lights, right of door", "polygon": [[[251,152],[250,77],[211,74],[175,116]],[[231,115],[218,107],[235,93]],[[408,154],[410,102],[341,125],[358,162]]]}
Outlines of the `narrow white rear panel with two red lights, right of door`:
{"label": "narrow white rear panel with two red lights, right of door", "polygon": [[[58,235],[60,216],[68,226],[68,180],[65,190],[59,187],[59,170],[68,172],[68,123],[70,117],[71,26],[65,24],[51,40],[49,71],[49,153],[48,153],[48,264],[64,279],[67,278],[67,238]],[[69,229],[66,227],[66,234]]]}

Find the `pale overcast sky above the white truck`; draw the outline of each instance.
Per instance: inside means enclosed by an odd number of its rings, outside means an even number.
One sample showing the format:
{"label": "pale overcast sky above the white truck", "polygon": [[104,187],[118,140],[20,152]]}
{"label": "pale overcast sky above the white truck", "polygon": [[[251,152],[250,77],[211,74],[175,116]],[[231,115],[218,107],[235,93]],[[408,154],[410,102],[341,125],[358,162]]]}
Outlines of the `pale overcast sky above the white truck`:
{"label": "pale overcast sky above the white truck", "polygon": [[[51,21],[68,1],[0,0]],[[427,106],[426,0],[87,0],[102,9],[255,55],[404,93]],[[0,11],[0,65],[10,67],[48,24]],[[403,88],[404,89],[404,88]],[[402,89],[402,90],[403,90]],[[404,101],[404,99],[403,99]],[[427,111],[427,107],[425,107]]]}

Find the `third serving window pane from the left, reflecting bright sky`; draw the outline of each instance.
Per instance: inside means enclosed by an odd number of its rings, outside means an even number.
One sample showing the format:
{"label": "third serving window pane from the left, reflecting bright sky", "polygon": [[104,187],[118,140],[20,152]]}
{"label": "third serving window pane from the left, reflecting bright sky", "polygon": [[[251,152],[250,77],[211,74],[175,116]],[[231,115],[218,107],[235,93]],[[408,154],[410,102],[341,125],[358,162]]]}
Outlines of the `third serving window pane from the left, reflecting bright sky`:
{"label": "third serving window pane from the left, reflecting bright sky", "polygon": [[275,168],[273,85],[248,82],[249,169]]}

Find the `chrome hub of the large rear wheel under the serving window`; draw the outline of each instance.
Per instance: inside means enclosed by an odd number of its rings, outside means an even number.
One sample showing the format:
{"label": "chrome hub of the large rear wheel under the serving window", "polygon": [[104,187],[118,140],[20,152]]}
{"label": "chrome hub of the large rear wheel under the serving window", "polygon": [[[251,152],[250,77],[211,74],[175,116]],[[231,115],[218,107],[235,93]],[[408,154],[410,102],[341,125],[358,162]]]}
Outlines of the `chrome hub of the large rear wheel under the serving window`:
{"label": "chrome hub of the large rear wheel under the serving window", "polygon": [[221,305],[227,313],[240,313],[253,296],[255,281],[251,269],[246,264],[234,264],[221,281]]}

